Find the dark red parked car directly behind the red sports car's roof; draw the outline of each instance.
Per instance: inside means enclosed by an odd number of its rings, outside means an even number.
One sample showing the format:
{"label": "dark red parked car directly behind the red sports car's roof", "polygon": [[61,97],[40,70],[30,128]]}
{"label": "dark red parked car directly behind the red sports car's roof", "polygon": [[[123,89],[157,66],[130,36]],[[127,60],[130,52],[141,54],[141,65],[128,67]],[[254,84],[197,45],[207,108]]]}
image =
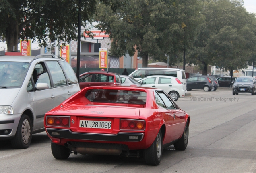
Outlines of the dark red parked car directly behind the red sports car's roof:
{"label": "dark red parked car directly behind the red sports car's roof", "polygon": [[119,74],[107,71],[89,71],[80,74],[80,89],[100,85],[121,85]]}

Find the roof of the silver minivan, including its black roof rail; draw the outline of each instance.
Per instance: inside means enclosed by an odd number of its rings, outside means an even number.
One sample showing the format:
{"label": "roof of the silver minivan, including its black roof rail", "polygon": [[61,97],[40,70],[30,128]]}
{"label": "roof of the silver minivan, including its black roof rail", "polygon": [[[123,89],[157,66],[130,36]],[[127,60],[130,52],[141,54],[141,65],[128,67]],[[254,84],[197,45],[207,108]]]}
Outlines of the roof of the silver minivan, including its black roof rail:
{"label": "roof of the silver minivan, including its black roof rail", "polygon": [[[62,57],[50,54],[40,54],[37,56],[0,56],[0,61],[12,61],[12,62],[31,62],[36,59],[46,58],[48,60],[62,59]],[[62,59],[63,60],[63,59]]]}

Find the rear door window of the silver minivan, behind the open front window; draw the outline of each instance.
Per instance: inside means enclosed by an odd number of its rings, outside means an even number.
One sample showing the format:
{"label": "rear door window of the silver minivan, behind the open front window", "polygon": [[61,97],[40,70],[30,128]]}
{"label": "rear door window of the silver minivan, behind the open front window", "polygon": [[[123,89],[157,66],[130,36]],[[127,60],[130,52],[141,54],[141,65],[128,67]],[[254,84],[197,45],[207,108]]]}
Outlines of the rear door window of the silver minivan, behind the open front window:
{"label": "rear door window of the silver minivan, behind the open front window", "polygon": [[60,67],[60,64],[57,61],[46,61],[46,64],[50,69],[54,87],[66,85],[66,78]]}

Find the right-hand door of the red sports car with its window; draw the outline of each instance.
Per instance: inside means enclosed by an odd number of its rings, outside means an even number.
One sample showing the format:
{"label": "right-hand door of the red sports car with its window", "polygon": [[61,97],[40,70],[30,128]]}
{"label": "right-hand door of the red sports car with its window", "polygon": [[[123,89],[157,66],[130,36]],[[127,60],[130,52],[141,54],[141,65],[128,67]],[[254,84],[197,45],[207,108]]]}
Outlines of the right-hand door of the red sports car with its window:
{"label": "right-hand door of the red sports car with its window", "polygon": [[[175,140],[174,131],[174,117],[172,108],[173,105],[167,96],[163,97],[163,91],[155,92],[155,102],[159,105],[159,114],[162,115],[166,125],[166,134],[163,143],[170,143]],[[161,96],[162,97],[161,97]],[[169,100],[169,101],[168,101]]]}

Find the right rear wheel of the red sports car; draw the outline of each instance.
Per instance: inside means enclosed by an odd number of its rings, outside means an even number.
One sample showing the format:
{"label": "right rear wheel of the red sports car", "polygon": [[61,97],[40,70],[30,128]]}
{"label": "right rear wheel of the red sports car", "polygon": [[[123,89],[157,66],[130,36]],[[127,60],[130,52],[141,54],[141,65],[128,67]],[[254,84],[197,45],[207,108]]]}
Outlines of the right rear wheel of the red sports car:
{"label": "right rear wheel of the red sports car", "polygon": [[161,131],[158,132],[152,145],[144,150],[144,158],[147,165],[159,165],[163,153],[163,137]]}

